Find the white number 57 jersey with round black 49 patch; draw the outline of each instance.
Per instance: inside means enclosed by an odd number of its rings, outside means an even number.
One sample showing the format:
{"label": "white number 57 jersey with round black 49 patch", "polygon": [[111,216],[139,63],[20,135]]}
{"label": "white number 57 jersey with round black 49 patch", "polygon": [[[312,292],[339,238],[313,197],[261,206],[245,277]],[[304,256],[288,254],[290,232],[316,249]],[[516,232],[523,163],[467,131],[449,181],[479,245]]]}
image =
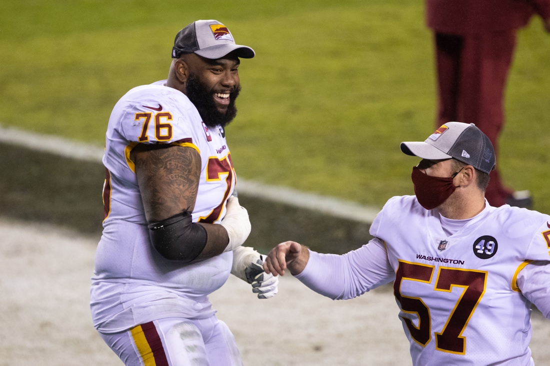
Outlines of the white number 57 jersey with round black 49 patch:
{"label": "white number 57 jersey with round black 49 patch", "polygon": [[447,236],[437,210],[394,197],[371,235],[395,272],[414,365],[532,364],[531,304],[516,277],[529,260],[550,260],[548,215],[487,206]]}

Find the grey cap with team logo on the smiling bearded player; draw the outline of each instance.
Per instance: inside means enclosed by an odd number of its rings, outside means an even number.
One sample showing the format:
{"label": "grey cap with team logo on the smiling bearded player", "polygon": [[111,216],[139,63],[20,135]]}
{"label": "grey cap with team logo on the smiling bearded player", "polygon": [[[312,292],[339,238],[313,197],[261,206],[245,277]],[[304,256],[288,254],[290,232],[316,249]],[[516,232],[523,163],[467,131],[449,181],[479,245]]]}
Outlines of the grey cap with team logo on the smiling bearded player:
{"label": "grey cap with team logo on the smiling bearded player", "polygon": [[232,51],[237,51],[240,58],[255,55],[254,49],[236,45],[229,29],[219,21],[197,20],[175,36],[172,58],[178,58],[182,53],[196,53],[205,58],[218,59]]}

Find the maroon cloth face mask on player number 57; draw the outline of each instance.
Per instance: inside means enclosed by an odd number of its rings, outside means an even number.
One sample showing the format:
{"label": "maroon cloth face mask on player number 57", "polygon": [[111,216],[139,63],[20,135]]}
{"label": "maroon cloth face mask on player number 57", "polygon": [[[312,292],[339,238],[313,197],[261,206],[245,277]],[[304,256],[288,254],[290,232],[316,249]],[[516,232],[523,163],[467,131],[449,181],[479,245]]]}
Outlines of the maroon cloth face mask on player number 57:
{"label": "maroon cloth face mask on player number 57", "polygon": [[453,194],[456,186],[453,184],[454,176],[441,178],[437,176],[422,173],[418,167],[412,168],[412,184],[414,184],[414,193],[418,203],[423,208],[431,210],[445,202]]}

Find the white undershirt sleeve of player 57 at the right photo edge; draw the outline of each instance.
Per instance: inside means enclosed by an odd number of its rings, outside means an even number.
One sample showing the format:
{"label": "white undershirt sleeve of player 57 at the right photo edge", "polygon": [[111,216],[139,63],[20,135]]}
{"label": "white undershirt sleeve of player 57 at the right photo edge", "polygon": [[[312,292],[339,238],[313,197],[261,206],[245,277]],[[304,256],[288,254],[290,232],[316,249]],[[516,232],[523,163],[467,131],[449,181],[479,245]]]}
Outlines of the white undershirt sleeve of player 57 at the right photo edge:
{"label": "white undershirt sleeve of player 57 at the right photo edge", "polygon": [[521,293],[550,319],[550,262],[537,260],[525,266],[516,279]]}

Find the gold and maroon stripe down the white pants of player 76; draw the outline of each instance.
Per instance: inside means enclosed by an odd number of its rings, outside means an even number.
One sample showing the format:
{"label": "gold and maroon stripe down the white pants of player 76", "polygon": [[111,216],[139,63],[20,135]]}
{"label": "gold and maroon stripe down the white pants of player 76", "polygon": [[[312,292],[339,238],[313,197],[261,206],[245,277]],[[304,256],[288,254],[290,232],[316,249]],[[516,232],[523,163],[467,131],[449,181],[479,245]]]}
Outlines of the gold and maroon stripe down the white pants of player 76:
{"label": "gold and maroon stripe down the white pants of player 76", "polygon": [[155,324],[141,324],[131,329],[134,343],[145,366],[169,366]]}

